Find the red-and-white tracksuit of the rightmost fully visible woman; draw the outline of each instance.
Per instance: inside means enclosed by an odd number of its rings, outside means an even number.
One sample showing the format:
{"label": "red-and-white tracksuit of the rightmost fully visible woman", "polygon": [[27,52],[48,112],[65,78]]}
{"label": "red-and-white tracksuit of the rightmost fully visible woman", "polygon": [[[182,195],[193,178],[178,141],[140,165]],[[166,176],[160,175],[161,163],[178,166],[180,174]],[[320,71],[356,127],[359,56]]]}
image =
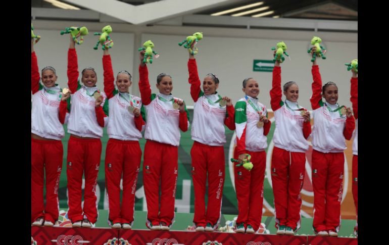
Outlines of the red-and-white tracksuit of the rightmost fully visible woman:
{"label": "red-and-white tracksuit of the rightmost fully visible woman", "polygon": [[312,130],[312,185],[314,193],[313,228],[338,232],[341,224],[341,202],[346,150],[355,127],[354,117],[347,117],[339,105],[322,101],[319,66],[312,66],[314,125]]}

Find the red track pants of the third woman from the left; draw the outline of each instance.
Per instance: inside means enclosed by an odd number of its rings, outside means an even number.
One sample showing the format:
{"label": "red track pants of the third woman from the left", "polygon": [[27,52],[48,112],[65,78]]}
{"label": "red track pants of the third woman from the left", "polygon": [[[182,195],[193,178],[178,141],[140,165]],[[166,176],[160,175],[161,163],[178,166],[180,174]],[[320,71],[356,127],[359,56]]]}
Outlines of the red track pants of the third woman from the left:
{"label": "red track pants of the third woman from the left", "polygon": [[[109,201],[109,221],[128,223],[134,221],[136,183],[142,152],[138,141],[110,138],[107,144],[105,174]],[[123,197],[120,206],[120,180],[123,175]],[[112,224],[111,223],[111,224]]]}

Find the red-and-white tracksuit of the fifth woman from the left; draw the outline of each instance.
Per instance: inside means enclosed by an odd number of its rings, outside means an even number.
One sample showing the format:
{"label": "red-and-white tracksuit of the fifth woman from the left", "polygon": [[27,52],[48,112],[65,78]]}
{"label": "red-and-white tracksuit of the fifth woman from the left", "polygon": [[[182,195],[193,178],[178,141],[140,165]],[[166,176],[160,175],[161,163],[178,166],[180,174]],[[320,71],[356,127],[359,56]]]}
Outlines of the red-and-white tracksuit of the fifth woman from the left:
{"label": "red-and-white tracksuit of the fifth woman from the left", "polygon": [[[224,143],[226,125],[235,129],[234,107],[220,106],[221,96],[205,95],[201,90],[196,59],[188,60],[190,95],[194,101],[191,136],[194,140],[191,156],[191,174],[194,188],[194,217],[196,226],[210,223],[216,229],[221,217],[225,176]],[[205,210],[205,192],[208,173],[208,205]]]}

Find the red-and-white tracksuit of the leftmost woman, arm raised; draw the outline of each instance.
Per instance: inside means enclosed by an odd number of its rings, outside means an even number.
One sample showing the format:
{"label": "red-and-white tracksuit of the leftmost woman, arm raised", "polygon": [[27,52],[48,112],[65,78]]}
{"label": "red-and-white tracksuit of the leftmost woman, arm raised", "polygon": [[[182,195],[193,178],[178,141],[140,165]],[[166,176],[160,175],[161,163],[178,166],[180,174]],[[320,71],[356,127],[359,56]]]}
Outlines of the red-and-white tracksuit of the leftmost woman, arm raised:
{"label": "red-and-white tracksuit of the leftmost woman, arm raised", "polygon": [[[31,223],[43,217],[53,224],[58,220],[58,181],[62,170],[65,136],[66,101],[61,101],[61,88],[45,87],[39,83],[38,62],[31,53],[31,133],[47,140],[31,137]],[[46,204],[43,184],[46,179]]]}

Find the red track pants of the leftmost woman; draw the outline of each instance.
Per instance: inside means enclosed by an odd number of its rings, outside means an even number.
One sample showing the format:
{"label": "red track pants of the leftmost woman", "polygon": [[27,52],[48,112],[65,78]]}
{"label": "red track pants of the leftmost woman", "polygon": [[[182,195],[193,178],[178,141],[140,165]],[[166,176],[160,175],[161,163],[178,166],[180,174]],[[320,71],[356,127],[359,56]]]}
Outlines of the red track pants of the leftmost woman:
{"label": "red track pants of the leftmost woman", "polygon": [[[31,223],[39,217],[53,223],[58,220],[63,153],[61,140],[31,138]],[[43,205],[43,172],[46,173],[46,207]]]}

